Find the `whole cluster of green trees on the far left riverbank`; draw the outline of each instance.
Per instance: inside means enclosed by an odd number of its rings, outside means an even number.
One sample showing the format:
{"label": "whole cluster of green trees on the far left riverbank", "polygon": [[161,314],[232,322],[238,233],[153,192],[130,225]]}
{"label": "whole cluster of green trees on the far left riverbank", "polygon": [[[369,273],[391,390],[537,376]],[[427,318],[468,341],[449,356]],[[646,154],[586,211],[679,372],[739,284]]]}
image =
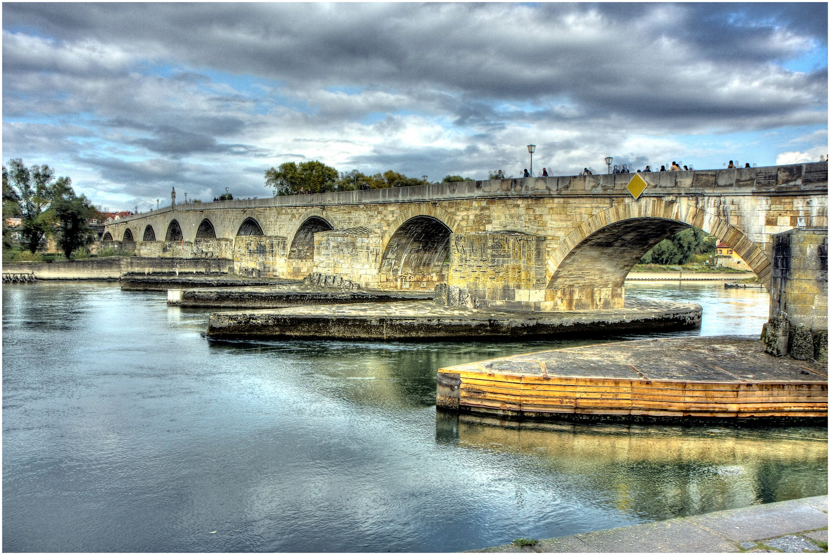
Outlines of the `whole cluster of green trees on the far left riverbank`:
{"label": "whole cluster of green trees on the far left riverbank", "polygon": [[2,248],[13,248],[8,219],[20,218],[21,246],[31,253],[41,248],[47,236],[54,237],[58,248],[70,258],[78,248],[95,240],[90,227],[99,210],[85,195],[76,195],[72,180],[55,177],[48,165],[27,168],[19,158],[2,166]]}

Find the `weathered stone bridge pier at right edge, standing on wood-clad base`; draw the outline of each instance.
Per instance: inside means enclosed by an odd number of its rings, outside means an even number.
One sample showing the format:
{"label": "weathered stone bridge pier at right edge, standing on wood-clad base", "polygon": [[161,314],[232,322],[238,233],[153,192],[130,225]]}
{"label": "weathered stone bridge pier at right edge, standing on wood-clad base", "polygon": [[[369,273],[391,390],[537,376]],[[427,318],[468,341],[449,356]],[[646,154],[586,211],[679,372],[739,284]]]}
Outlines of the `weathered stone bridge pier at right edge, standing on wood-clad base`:
{"label": "weathered stone bridge pier at right edge, standing on wood-clad base", "polygon": [[828,230],[792,229],[774,237],[766,351],[828,361]]}

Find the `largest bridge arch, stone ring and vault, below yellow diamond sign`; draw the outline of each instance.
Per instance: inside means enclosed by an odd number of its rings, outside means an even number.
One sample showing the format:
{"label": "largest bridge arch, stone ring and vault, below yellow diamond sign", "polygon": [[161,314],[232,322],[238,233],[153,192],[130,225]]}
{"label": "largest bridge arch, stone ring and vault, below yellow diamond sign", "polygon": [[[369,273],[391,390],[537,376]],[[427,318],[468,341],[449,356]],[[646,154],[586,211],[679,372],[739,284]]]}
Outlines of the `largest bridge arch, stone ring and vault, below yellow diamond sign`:
{"label": "largest bridge arch, stone ring and vault, below yellow diamond sign", "polygon": [[641,199],[594,214],[559,243],[547,262],[546,300],[560,309],[623,306],[625,278],[634,264],[688,226],[729,243],[769,290],[769,258],[740,229],[685,199]]}

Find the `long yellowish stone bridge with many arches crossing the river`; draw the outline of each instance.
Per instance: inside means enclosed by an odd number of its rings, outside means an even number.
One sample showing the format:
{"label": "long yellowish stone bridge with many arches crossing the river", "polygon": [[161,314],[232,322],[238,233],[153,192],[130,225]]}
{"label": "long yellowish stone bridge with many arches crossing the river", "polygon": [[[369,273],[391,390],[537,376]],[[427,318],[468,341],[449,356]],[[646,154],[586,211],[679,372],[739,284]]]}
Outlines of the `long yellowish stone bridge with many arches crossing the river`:
{"label": "long yellowish stone bridge with many arches crossing the river", "polygon": [[633,265],[688,226],[767,286],[774,233],[828,226],[826,162],[641,175],[638,199],[634,174],[606,174],[177,204],[108,223],[104,237],[139,256],[232,260],[251,277],[442,284],[448,306],[554,311],[623,307]]}

